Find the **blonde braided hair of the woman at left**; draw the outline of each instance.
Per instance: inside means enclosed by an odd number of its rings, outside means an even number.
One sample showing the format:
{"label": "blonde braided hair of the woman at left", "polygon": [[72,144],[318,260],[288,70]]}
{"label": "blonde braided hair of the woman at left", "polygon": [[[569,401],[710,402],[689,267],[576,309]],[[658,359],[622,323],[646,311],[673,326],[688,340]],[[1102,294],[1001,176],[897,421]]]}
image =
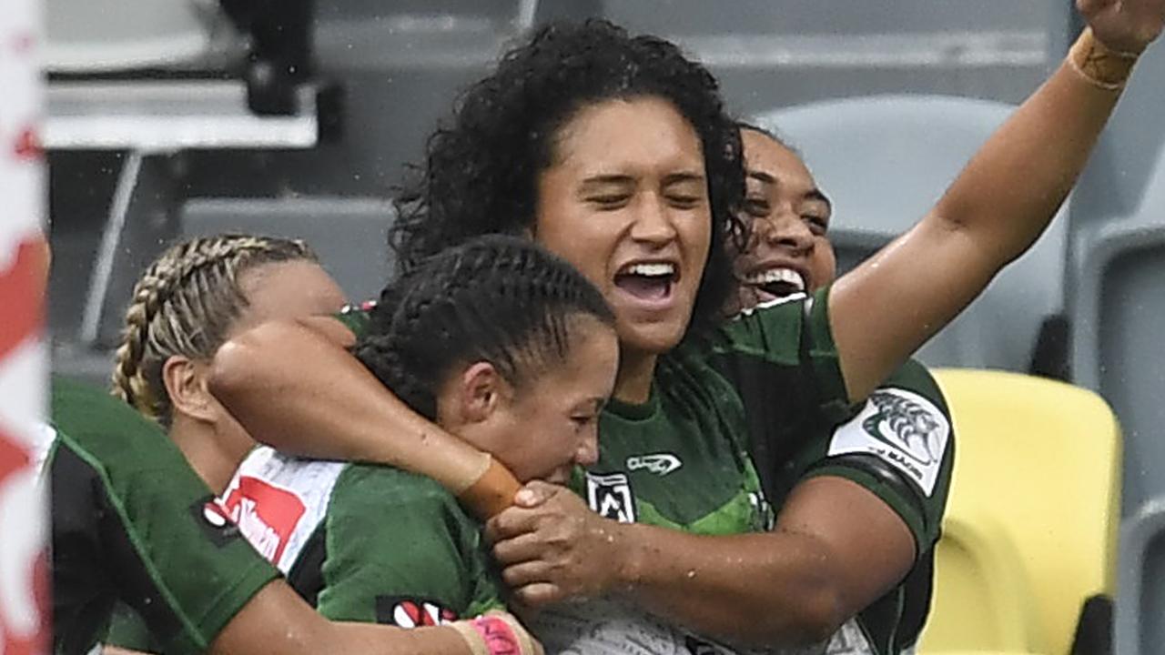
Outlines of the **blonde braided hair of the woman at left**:
{"label": "blonde braided hair of the woman at left", "polygon": [[174,355],[210,359],[248,302],[239,276],[282,261],[317,261],[303,241],[223,234],[171,246],[134,287],[113,368],[113,394],[168,425],[162,367]]}

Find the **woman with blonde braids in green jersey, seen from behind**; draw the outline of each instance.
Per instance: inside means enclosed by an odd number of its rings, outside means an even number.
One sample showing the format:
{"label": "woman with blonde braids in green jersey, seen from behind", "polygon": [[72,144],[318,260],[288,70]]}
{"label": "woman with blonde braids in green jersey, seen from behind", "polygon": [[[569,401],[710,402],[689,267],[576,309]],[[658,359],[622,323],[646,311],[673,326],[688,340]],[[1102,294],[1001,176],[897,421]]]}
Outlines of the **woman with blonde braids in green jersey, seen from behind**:
{"label": "woman with blonde braids in green jersey, seen from behind", "polygon": [[508,614],[407,632],[327,621],[217,502],[250,439],[206,393],[207,358],[239,330],[343,302],[302,242],[193,239],[146,272],[127,312],[115,394],[140,413],[54,380],[55,653],[89,652],[118,604],[163,653],[481,655],[507,639],[539,652]]}

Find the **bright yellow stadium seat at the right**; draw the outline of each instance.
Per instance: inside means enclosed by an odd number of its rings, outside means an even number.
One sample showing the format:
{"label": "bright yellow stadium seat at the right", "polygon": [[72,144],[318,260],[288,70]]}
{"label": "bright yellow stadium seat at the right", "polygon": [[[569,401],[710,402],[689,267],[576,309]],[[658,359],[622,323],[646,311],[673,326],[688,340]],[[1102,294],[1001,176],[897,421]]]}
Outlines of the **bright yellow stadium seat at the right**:
{"label": "bright yellow stadium seat at the right", "polygon": [[1062,382],[933,373],[958,441],[919,653],[1068,655],[1085,600],[1115,591],[1116,417]]}

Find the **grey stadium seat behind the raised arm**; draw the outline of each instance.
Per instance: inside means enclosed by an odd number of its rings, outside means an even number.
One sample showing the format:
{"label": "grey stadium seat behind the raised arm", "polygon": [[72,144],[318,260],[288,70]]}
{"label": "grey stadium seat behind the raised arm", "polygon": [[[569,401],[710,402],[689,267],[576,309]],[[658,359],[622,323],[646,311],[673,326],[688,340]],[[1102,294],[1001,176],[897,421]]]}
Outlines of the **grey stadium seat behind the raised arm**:
{"label": "grey stadium seat behind the raised arm", "polygon": [[[803,154],[833,199],[829,232],[845,272],[917,223],[1012,108],[944,96],[871,96],[782,108],[756,121]],[[919,358],[929,366],[1028,372],[1042,325],[1062,311],[1065,233],[1060,218]],[[1002,322],[1007,330],[997,329]]]}

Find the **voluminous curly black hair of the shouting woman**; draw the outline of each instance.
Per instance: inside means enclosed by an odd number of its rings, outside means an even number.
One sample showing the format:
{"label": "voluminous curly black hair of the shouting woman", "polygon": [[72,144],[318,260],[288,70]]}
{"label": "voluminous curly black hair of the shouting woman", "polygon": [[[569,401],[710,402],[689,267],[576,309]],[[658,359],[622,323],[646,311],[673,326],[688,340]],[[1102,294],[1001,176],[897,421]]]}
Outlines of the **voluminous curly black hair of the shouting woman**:
{"label": "voluminous curly black hair of the shouting woman", "polygon": [[461,96],[452,125],[430,136],[425,165],[395,200],[389,242],[401,272],[473,235],[531,233],[538,176],[553,163],[560,128],[588,105],[640,97],[669,101],[700,139],[712,247],[692,323],[715,324],[733,284],[723,246],[747,230],[737,217],[740,132],[707,69],[673,43],[601,20],[542,28]]}

